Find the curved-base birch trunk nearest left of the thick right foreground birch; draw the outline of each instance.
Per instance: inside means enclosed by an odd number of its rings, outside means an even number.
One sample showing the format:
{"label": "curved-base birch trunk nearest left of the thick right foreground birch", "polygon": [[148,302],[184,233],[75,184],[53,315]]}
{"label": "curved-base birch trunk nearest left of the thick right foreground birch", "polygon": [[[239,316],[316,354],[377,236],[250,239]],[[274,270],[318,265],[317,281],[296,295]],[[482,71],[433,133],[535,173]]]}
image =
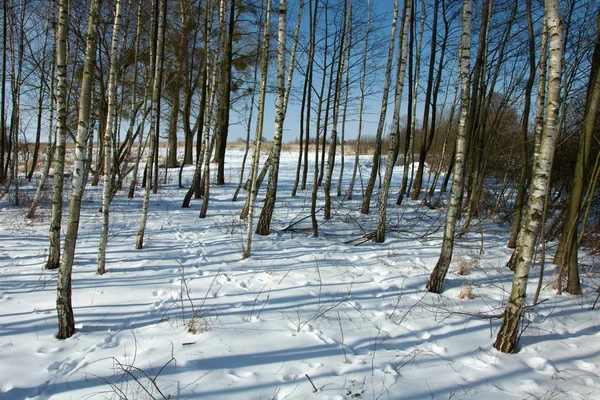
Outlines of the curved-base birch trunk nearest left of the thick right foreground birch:
{"label": "curved-base birch trunk nearest left of the thick right foreground birch", "polygon": [[427,282],[426,289],[433,293],[441,293],[454,248],[454,233],[456,232],[456,219],[460,206],[460,193],[463,185],[463,167],[465,163],[466,149],[466,123],[469,108],[469,73],[471,67],[471,0],[464,0],[462,14],[462,32],[460,46],[460,68],[459,79],[461,83],[460,92],[460,117],[458,121],[458,132],[456,134],[454,173],[452,175],[452,189],[448,211],[446,213],[446,224],[444,226],[444,238],[442,250],[433,272]]}

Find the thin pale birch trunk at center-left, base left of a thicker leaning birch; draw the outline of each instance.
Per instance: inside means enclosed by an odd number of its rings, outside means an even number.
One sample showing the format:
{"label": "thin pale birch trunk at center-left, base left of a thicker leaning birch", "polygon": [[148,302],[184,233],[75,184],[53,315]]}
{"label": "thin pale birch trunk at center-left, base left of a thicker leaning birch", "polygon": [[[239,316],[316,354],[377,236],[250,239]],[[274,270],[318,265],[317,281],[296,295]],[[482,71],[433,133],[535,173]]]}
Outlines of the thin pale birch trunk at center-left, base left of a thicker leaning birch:
{"label": "thin pale birch trunk at center-left, base left of a thicker leaning birch", "polygon": [[258,116],[256,121],[256,136],[254,138],[254,153],[252,154],[252,169],[250,170],[250,203],[248,206],[248,230],[246,232],[246,245],[242,251],[242,258],[250,257],[252,248],[252,225],[254,223],[254,205],[256,204],[256,175],[260,162],[260,145],[262,142],[263,121],[265,116],[265,95],[267,91],[267,68],[269,66],[269,26],[271,17],[271,0],[266,0],[265,25],[260,60],[260,91],[258,95]]}

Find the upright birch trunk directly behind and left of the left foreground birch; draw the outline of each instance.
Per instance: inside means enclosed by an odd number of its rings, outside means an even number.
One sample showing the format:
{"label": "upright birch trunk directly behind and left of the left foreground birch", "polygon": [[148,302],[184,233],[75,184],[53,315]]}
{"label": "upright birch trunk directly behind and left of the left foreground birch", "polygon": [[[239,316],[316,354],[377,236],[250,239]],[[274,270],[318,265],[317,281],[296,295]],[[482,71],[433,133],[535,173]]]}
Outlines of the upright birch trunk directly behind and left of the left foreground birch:
{"label": "upright birch trunk directly behind and left of the left foreground birch", "polygon": [[[65,170],[65,144],[67,140],[67,41],[69,39],[69,0],[58,5],[58,44],[56,47],[56,154],[54,156],[54,183],[52,212],[50,215],[50,244],[47,269],[60,266],[60,227],[62,220],[63,184]],[[66,325],[65,321],[65,325]]]}

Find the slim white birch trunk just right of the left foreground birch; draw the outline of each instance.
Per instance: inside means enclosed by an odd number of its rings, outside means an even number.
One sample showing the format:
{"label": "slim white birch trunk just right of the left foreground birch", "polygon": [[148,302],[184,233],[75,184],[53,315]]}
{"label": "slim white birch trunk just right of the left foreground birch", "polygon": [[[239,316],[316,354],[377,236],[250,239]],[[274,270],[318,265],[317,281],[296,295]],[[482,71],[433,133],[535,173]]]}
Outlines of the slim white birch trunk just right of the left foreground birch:
{"label": "slim white birch trunk just right of the left foreground birch", "polygon": [[113,134],[117,119],[117,57],[119,56],[119,36],[121,34],[121,0],[115,5],[115,22],[113,24],[112,45],[110,54],[110,72],[108,78],[108,111],[106,130],[104,132],[104,182],[102,190],[102,230],[98,246],[98,267],[96,273],[106,272],[106,246],[108,244],[108,227],[110,224],[111,176],[113,164]]}

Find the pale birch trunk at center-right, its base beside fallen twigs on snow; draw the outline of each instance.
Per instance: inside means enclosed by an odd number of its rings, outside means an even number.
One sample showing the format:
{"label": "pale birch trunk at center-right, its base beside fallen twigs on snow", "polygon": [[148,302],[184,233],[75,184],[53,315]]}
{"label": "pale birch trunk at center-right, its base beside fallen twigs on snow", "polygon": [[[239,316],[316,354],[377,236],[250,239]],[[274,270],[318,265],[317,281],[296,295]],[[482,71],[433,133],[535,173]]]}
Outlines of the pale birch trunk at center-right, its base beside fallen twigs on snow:
{"label": "pale birch trunk at center-right, its base beside fallen twigs on snow", "polygon": [[[381,188],[379,199],[379,217],[377,219],[377,229],[375,230],[374,240],[377,243],[385,241],[385,224],[387,200],[390,192],[390,183],[392,173],[398,158],[398,148],[400,135],[400,105],[402,103],[402,91],[404,89],[404,77],[406,75],[406,54],[408,50],[408,28],[413,12],[413,0],[404,0],[404,10],[402,11],[402,31],[400,33],[400,50],[398,51],[398,66],[396,72],[396,91],[394,95],[394,114],[392,117],[392,132],[390,133],[390,148],[388,151],[388,160],[385,168],[385,178]],[[406,171],[404,171],[406,174]]]}

